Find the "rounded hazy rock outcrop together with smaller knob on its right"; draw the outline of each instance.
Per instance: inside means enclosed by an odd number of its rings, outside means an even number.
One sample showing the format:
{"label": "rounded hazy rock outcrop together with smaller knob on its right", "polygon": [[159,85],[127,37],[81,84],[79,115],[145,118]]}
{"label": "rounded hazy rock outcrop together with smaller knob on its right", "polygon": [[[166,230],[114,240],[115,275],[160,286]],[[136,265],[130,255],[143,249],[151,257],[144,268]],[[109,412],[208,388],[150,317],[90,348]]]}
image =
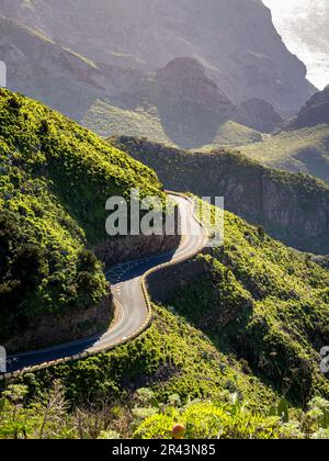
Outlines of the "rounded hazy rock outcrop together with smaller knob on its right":
{"label": "rounded hazy rock outcrop together with smaller knob on its right", "polygon": [[264,133],[283,122],[265,101],[252,99],[235,105],[194,58],[171,60],[149,75],[147,82],[144,100],[157,106],[167,136],[186,149],[212,144],[229,120]]}

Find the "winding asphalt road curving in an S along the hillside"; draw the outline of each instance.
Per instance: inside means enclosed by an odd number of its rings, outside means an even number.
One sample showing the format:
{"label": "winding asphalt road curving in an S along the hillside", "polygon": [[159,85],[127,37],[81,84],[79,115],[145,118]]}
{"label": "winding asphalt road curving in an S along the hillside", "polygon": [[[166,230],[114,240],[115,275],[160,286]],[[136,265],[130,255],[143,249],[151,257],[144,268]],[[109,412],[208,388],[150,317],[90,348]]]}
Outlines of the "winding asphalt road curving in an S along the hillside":
{"label": "winding asphalt road curving in an S along the hillside", "polygon": [[82,352],[101,352],[111,346],[124,342],[145,327],[149,311],[141,289],[143,276],[151,268],[177,262],[195,255],[205,245],[207,238],[204,228],[195,218],[193,203],[183,196],[170,196],[179,206],[181,244],[177,250],[170,254],[121,263],[105,272],[111,282],[116,305],[115,322],[110,329],[105,334],[92,338],[10,356],[8,372],[73,357]]}

